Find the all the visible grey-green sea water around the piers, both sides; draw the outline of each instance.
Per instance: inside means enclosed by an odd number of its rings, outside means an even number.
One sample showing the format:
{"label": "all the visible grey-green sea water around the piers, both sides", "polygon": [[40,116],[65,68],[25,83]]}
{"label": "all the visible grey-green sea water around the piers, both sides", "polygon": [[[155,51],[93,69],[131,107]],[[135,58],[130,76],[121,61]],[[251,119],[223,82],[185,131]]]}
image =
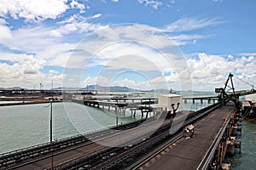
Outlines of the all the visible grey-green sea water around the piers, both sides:
{"label": "all the visible grey-green sea water around the piers, both sides", "polygon": [[[157,97],[158,94],[147,93],[145,97]],[[191,93],[183,93],[189,97]],[[194,93],[194,96],[213,96],[214,93]],[[189,102],[189,101],[188,101]],[[199,110],[207,106],[207,101],[195,105],[183,104],[184,110]],[[49,141],[49,104],[15,105],[0,107],[0,154],[18,150],[34,144]],[[71,102],[53,104],[53,139],[62,139],[79,133],[107,128],[116,124],[116,113],[102,111],[93,107]],[[118,122],[133,122],[136,118],[131,113],[118,115]],[[241,135],[241,156],[228,158],[232,169],[255,169],[256,166],[256,125],[243,122]],[[254,167],[253,167],[254,166]]]}

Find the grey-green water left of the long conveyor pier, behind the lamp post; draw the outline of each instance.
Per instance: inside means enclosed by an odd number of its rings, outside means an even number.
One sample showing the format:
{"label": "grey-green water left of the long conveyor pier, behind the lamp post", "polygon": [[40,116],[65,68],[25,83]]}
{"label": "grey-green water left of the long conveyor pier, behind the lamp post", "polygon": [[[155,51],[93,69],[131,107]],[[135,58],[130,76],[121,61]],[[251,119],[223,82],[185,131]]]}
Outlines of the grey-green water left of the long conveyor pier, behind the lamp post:
{"label": "grey-green water left of the long conveyor pier, behind the lamp post", "polygon": [[[0,153],[49,141],[49,104],[0,107]],[[119,116],[120,122],[136,120]],[[113,126],[112,113],[76,103],[53,104],[53,139]]]}

